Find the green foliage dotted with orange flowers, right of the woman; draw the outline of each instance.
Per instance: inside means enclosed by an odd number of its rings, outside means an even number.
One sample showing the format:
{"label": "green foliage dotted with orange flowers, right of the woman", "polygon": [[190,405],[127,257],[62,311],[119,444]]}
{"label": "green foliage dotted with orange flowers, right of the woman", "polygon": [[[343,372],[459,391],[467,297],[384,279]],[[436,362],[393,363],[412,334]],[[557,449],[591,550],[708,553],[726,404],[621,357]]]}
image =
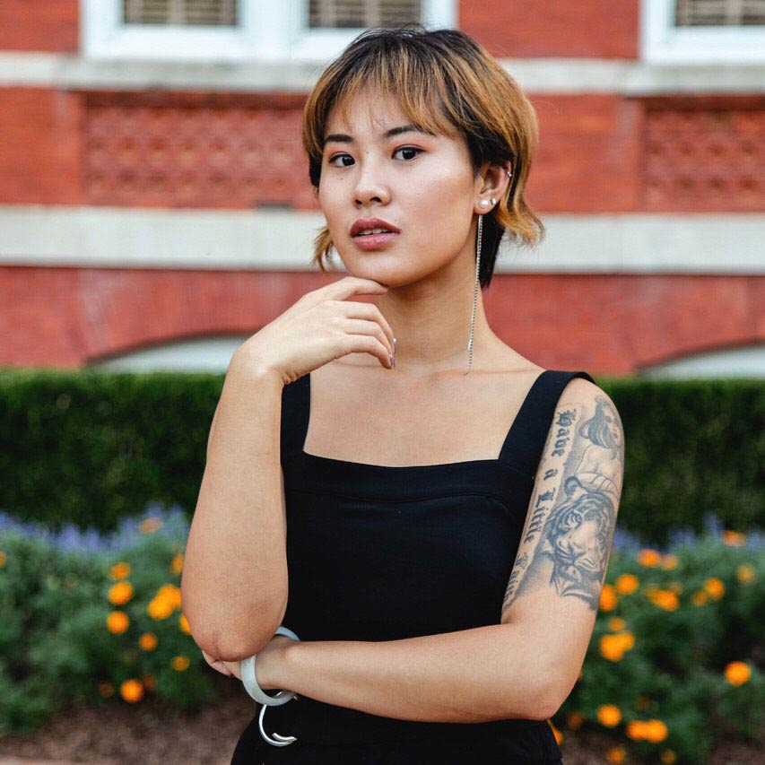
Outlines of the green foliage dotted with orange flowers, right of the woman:
{"label": "green foliage dotted with orange flowers, right of the woman", "polygon": [[[705,536],[664,556],[612,552],[585,665],[557,726],[577,728],[580,716],[611,729],[640,762],[672,750],[677,763],[700,765],[723,737],[756,739],[765,712],[765,550],[757,539],[729,538]],[[628,592],[631,577],[639,586]],[[747,678],[737,685],[726,679],[736,668]],[[619,710],[616,726],[599,718],[608,705]],[[655,741],[634,737],[636,720],[660,721]]]}

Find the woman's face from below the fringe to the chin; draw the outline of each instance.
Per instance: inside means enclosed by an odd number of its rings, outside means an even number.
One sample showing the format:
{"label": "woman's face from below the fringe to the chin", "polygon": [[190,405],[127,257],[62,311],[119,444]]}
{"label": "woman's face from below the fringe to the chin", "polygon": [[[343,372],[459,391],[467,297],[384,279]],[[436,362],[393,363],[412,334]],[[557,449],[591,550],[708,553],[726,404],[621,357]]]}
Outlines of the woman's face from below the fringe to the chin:
{"label": "woman's face from below the fringe to the chin", "polygon": [[[362,92],[349,121],[328,115],[319,204],[349,274],[396,287],[465,257],[474,270],[471,223],[481,178],[460,135],[430,135],[409,124],[396,100]],[[359,219],[398,233],[384,241],[352,236]],[[363,246],[366,245],[367,248]],[[457,269],[459,270],[459,269]]]}

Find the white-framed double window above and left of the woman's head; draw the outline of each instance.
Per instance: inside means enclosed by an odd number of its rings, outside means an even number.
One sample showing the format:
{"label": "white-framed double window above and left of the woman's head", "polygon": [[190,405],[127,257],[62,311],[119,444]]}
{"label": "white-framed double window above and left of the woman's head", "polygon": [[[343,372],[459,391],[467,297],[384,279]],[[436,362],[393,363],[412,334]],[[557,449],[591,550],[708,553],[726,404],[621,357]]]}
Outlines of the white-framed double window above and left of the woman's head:
{"label": "white-framed double window above and left of the woman's head", "polygon": [[456,25],[458,0],[80,0],[83,55],[326,61],[387,22]]}

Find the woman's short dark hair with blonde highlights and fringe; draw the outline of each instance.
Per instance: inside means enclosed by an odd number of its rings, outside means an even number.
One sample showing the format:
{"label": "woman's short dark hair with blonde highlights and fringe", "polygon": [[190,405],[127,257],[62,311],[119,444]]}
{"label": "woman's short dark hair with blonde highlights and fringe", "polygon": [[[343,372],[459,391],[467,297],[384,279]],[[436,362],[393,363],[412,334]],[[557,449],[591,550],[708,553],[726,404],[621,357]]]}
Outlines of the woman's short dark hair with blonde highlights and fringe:
{"label": "woman's short dark hair with blonde highlights and fringe", "polygon": [[[420,24],[364,30],[324,72],[310,92],[302,115],[302,143],[315,192],[321,179],[329,112],[347,117],[350,103],[365,88],[401,102],[413,125],[442,135],[462,135],[476,176],[484,162],[512,166],[508,189],[483,216],[482,287],[508,238],[519,246],[541,241],[544,227],[524,199],[526,178],[539,136],[536,113],[515,80],[474,39],[460,30],[426,30]],[[314,239],[314,262],[322,272],[334,247],[326,226]]]}

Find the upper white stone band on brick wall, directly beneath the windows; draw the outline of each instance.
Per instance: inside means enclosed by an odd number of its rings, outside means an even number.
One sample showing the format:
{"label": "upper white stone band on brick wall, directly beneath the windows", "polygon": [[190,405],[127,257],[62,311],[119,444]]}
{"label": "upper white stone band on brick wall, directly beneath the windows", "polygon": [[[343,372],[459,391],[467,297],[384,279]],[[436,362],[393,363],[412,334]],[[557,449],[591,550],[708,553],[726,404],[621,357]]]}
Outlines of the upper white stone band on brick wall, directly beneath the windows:
{"label": "upper white stone band on brick wall, directly beneath the windows", "polygon": [[[762,93],[765,64],[651,65],[601,58],[515,58],[500,63],[531,93]],[[310,61],[94,61],[55,53],[0,52],[0,87],[57,90],[309,91],[323,64]]]}

